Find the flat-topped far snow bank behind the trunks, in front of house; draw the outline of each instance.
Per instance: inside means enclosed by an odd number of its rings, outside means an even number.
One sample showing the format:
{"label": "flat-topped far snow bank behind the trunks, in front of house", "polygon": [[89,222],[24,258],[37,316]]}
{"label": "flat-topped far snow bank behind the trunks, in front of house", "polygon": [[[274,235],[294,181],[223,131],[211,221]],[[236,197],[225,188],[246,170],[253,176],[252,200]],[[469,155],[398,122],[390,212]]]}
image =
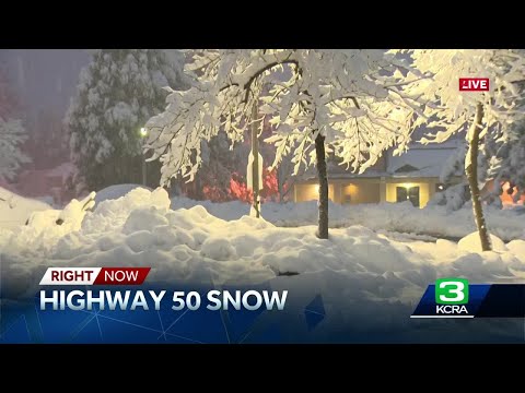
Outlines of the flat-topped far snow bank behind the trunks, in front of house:
{"label": "flat-topped far snow bank behind the trunks, in front of house", "polygon": [[[200,204],[223,219],[238,219],[249,213],[249,205],[238,201],[213,203],[173,198],[172,209],[191,207]],[[504,241],[525,239],[525,219],[520,209],[500,210],[485,206],[489,231]],[[521,214],[520,214],[521,213]],[[282,227],[315,225],[317,202],[262,203],[261,214],[268,222]],[[446,206],[413,207],[410,202],[341,205],[329,204],[330,227],[363,225],[374,230],[389,230],[431,235],[434,237],[462,238],[476,230],[472,209],[469,204],[450,212]]]}

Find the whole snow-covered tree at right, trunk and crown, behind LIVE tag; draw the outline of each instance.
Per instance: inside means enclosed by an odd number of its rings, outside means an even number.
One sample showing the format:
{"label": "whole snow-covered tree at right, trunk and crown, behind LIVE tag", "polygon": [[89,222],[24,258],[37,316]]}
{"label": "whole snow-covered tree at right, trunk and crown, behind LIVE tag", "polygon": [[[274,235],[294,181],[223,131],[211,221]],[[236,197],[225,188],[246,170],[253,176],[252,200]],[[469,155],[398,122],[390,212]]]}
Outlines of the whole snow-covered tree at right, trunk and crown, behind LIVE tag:
{"label": "whole snow-covered tree at right, trunk and crown, behind LIVE tag", "polygon": [[[428,127],[435,128],[436,132],[421,142],[443,142],[467,130],[465,174],[481,247],[483,251],[490,250],[478,184],[478,151],[483,139],[505,135],[509,127],[523,118],[520,83],[525,79],[524,52],[510,49],[417,49],[408,52],[413,58],[413,67],[432,75],[405,90],[407,94],[434,102],[427,106],[425,115],[435,119]],[[488,78],[490,91],[462,92],[459,78]]]}

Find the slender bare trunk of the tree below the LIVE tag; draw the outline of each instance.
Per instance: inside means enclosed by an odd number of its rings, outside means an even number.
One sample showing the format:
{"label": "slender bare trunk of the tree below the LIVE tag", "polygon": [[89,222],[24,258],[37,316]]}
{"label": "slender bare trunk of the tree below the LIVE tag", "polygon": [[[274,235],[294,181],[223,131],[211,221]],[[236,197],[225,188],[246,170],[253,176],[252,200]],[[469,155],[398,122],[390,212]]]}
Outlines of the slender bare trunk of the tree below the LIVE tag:
{"label": "slender bare trunk of the tree below the LIVE tag", "polygon": [[481,122],[483,119],[483,106],[478,104],[476,107],[476,118],[468,135],[468,152],[465,159],[465,174],[467,175],[468,186],[470,188],[470,198],[472,200],[474,218],[478,227],[481,249],[492,251],[487,223],[485,222],[483,207],[481,205],[481,193],[478,186],[478,150],[479,134],[481,132]]}

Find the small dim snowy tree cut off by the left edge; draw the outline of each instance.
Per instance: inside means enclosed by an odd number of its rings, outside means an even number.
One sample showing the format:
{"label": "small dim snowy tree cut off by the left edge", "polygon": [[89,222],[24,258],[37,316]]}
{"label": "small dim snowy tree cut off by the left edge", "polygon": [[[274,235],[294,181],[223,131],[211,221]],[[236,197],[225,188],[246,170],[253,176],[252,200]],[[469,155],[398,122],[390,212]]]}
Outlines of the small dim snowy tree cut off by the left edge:
{"label": "small dim snowy tree cut off by the left edge", "polygon": [[26,139],[27,133],[21,120],[5,121],[0,117],[0,178],[13,179],[20,166],[31,162],[20,150]]}

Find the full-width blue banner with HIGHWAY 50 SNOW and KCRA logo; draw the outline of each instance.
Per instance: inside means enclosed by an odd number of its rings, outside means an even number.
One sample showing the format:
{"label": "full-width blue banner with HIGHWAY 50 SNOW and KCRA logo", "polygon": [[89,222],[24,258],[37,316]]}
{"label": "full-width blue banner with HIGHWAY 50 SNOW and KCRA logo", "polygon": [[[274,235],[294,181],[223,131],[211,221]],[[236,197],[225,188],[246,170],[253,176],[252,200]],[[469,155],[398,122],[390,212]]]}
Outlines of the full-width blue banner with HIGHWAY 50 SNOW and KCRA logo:
{"label": "full-width blue banner with HIGHWAY 50 SNOW and KCRA logo", "polygon": [[0,344],[525,342],[524,321],[509,318],[525,317],[525,286],[443,278],[413,311],[392,293],[378,299],[323,274],[256,285],[46,284],[24,296],[4,286]]}

